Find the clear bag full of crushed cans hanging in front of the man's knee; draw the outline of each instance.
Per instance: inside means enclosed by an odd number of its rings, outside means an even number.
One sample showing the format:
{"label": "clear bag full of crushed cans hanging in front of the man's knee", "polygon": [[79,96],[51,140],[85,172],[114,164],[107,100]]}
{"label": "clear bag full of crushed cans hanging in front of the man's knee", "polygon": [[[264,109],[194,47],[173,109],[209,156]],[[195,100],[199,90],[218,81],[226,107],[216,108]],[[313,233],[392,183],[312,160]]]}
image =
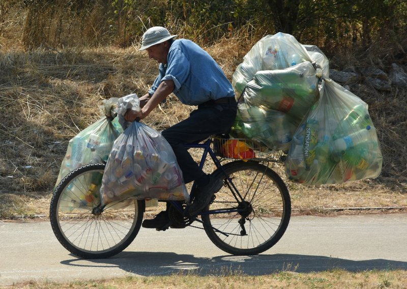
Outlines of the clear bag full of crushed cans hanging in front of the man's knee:
{"label": "clear bag full of crushed cans hanging in front of the man's knee", "polygon": [[[137,107],[136,96],[119,103],[118,116]],[[126,198],[189,200],[182,171],[166,139],[151,127],[139,123],[129,125],[114,142],[102,178],[102,204]]]}

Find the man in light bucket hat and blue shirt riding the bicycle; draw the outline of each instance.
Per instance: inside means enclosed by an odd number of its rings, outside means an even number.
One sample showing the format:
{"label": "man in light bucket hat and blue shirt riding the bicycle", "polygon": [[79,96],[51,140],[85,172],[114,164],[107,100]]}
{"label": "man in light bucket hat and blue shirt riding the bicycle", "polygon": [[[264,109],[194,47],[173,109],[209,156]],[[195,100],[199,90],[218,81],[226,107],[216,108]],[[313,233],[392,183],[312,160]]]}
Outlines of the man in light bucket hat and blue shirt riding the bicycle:
{"label": "man in light bucket hat and blue shirt riding the bicycle", "polygon": [[[160,64],[159,75],[148,93],[140,97],[141,110],[128,110],[125,119],[146,118],[171,93],[183,104],[197,106],[187,119],[162,131],[177,157],[184,182],[195,181],[195,198],[186,208],[194,216],[210,203],[222,182],[205,174],[184,145],[227,132],[236,119],[237,103],[232,85],[212,56],[194,42],[176,37],[160,26],[143,34],[140,50],[146,50],[149,58]],[[166,211],[142,223],[156,229],[169,225],[168,205]]]}

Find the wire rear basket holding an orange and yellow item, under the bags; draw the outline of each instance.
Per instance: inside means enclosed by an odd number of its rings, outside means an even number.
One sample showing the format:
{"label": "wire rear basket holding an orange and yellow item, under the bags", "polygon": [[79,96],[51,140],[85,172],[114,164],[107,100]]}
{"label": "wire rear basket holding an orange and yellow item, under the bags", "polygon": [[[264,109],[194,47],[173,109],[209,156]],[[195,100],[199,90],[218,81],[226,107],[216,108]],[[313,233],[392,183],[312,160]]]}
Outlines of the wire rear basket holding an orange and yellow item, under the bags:
{"label": "wire rear basket holding an orange and yellow item, under the bags", "polygon": [[232,160],[283,163],[286,158],[283,151],[273,151],[260,142],[244,138],[213,137],[212,150],[217,156]]}

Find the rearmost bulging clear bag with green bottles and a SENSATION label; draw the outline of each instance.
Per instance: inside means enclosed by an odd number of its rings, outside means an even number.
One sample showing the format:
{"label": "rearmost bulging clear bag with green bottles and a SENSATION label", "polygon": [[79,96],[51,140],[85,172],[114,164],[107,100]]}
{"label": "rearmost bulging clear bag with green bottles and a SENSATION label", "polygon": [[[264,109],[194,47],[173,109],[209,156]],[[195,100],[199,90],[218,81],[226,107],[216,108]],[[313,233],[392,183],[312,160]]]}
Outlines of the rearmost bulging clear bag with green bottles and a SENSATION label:
{"label": "rearmost bulging clear bag with green bottles and a SENSATION label", "polygon": [[309,185],[379,176],[383,158],[368,105],[330,79],[320,93],[294,135],[286,176]]}

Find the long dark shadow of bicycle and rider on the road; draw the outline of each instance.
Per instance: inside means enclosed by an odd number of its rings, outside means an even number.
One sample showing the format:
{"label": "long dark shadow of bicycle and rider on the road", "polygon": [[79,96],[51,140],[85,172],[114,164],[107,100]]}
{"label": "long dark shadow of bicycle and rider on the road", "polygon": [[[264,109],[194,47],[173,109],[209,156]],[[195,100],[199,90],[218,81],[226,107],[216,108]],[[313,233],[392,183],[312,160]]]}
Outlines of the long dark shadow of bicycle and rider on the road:
{"label": "long dark shadow of bicycle and rider on the road", "polygon": [[256,256],[219,256],[213,258],[171,252],[122,252],[109,259],[70,259],[61,262],[69,266],[118,267],[142,276],[169,275],[193,272],[198,275],[247,274],[267,275],[278,271],[298,273],[319,272],[330,269],[346,271],[407,269],[407,262],[386,259],[352,261],[341,258],[312,255],[275,254]]}

